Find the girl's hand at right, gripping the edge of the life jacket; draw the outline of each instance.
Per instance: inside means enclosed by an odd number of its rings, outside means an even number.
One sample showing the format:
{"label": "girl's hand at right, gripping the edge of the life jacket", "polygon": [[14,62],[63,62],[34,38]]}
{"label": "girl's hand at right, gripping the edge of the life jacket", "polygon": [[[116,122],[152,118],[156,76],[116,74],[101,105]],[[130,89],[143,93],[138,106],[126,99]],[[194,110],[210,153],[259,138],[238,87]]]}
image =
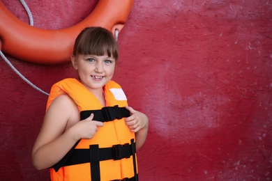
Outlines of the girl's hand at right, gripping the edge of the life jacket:
{"label": "girl's hand at right, gripping the edge of the life jacket", "polygon": [[149,125],[149,119],[144,113],[135,111],[132,107],[126,107],[130,111],[128,118],[125,118],[126,125],[128,125],[131,132],[139,132],[143,128],[147,128]]}

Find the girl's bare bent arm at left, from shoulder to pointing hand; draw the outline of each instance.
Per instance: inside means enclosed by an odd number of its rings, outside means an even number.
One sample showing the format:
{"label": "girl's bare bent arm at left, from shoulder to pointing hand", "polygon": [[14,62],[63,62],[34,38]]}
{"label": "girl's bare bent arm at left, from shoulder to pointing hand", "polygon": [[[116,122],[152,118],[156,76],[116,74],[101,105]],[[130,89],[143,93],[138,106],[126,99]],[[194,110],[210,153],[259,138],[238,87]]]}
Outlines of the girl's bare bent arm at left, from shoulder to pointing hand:
{"label": "girl's bare bent arm at left, from shoulder to pointing hand", "polygon": [[61,160],[75,143],[91,139],[103,123],[93,115],[80,121],[77,106],[68,95],[60,95],[45,113],[40,133],[33,145],[32,162],[37,169],[49,168]]}

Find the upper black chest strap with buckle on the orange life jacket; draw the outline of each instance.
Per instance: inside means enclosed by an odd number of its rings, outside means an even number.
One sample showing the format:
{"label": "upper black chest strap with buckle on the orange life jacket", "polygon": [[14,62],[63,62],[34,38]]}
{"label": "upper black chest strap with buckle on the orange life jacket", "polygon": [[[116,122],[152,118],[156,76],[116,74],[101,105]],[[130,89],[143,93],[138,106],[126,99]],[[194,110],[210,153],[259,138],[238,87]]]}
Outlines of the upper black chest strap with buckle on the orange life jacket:
{"label": "upper black chest strap with buckle on the orange life jacket", "polygon": [[100,110],[86,110],[80,112],[81,120],[84,120],[91,116],[91,113],[94,114],[93,120],[98,120],[101,122],[107,122],[110,120],[126,118],[130,116],[130,111],[126,107],[103,107]]}

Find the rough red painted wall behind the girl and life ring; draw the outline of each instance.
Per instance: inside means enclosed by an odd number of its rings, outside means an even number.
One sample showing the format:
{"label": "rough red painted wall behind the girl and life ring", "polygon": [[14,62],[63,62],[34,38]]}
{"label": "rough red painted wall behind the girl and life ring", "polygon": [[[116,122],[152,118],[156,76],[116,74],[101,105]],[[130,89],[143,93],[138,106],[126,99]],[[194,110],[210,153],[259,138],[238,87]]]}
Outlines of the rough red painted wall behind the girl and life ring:
{"label": "rough red painted wall behind the girl and life ring", "polygon": [[[29,22],[20,1],[3,3]],[[76,24],[94,4],[27,3],[34,26],[43,29]],[[149,135],[138,152],[140,180],[272,179],[271,16],[267,0],[135,1],[119,34],[114,80],[129,104],[149,116]],[[46,92],[75,77],[70,63],[8,58]],[[48,171],[31,165],[47,96],[2,58],[0,74],[0,178],[49,180]]]}

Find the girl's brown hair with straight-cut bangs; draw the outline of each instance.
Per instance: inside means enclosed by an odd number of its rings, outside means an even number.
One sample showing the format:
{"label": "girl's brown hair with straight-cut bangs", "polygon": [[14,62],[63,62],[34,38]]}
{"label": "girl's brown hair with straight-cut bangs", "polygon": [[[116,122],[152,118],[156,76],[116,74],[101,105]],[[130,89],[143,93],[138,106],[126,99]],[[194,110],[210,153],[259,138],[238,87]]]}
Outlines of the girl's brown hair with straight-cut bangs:
{"label": "girl's brown hair with straight-cut bangs", "polygon": [[73,55],[107,56],[118,60],[119,50],[112,33],[102,27],[87,27],[75,39]]}

